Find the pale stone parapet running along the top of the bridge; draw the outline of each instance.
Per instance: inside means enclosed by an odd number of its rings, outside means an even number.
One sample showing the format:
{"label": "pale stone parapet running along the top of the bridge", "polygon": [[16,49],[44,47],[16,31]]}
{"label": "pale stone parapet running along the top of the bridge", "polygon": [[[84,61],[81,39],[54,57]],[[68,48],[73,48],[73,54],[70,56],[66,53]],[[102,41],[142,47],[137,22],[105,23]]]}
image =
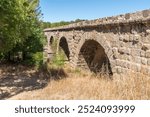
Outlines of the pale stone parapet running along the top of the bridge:
{"label": "pale stone parapet running along the top of the bridge", "polygon": [[135,13],[127,13],[118,16],[105,17],[96,20],[85,20],[78,23],[69,24],[66,26],[56,27],[56,28],[47,28],[44,31],[63,31],[63,30],[72,30],[72,29],[81,29],[86,27],[97,27],[104,25],[122,25],[129,23],[147,23],[150,22],[150,9],[138,11]]}

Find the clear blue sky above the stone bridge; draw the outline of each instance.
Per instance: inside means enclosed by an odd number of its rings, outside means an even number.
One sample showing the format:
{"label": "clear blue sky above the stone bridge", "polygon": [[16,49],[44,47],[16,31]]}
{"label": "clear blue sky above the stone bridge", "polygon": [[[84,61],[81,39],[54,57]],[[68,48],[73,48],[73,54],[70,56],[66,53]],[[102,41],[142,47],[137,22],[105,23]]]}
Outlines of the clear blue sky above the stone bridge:
{"label": "clear blue sky above the stone bridge", "polygon": [[44,21],[91,20],[150,9],[150,0],[40,0],[40,7]]}

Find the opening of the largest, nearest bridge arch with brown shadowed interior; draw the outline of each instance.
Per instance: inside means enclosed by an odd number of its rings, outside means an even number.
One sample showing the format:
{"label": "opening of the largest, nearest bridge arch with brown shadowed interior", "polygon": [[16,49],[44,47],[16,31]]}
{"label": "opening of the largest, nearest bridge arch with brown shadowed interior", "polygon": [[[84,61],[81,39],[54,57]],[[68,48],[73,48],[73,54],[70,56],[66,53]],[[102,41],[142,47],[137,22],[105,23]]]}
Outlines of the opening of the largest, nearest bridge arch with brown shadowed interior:
{"label": "opening of the largest, nearest bridge arch with brown shadowed interior", "polygon": [[77,65],[94,73],[112,75],[110,61],[105,50],[95,40],[87,40],[82,45]]}

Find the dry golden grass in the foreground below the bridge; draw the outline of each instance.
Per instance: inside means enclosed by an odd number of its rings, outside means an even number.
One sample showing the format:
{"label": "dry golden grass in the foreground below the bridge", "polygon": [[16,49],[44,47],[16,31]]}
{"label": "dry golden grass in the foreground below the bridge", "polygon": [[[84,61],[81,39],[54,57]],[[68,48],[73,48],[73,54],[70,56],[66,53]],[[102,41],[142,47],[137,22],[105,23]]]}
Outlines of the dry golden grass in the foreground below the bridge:
{"label": "dry golden grass in the foreground below the bridge", "polygon": [[[67,78],[50,80],[43,89],[20,93],[10,99],[60,100],[60,99],[101,99],[101,100],[141,100],[150,99],[150,79],[132,74],[128,77],[96,77],[79,70],[65,70]],[[137,77],[138,76],[138,77]]]}

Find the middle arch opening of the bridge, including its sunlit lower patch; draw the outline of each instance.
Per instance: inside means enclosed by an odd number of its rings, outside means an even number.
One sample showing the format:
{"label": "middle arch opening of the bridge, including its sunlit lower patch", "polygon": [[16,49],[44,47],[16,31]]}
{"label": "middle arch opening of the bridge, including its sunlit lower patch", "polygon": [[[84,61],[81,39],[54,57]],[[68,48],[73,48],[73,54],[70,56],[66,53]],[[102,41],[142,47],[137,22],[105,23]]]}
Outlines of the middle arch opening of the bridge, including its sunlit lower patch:
{"label": "middle arch opening of the bridge, including its sunlit lower patch", "polygon": [[70,51],[67,40],[65,37],[62,37],[59,41],[59,52],[58,54],[62,54],[63,59],[65,61],[69,61]]}

